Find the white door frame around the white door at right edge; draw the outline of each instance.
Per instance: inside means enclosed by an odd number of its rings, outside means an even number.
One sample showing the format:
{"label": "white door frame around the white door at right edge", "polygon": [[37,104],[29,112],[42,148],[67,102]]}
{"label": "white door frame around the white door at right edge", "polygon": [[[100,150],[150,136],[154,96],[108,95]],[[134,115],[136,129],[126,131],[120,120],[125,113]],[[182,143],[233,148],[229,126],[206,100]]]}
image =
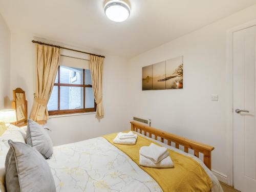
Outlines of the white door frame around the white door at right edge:
{"label": "white door frame around the white door at right edge", "polygon": [[256,19],[251,20],[245,24],[239,25],[232,29],[229,29],[227,32],[227,87],[229,90],[227,91],[227,99],[229,98],[229,102],[227,105],[227,127],[228,127],[228,135],[227,145],[229,146],[229,177],[227,178],[227,184],[234,186],[234,156],[233,156],[233,33],[244,30],[250,27],[256,26]]}

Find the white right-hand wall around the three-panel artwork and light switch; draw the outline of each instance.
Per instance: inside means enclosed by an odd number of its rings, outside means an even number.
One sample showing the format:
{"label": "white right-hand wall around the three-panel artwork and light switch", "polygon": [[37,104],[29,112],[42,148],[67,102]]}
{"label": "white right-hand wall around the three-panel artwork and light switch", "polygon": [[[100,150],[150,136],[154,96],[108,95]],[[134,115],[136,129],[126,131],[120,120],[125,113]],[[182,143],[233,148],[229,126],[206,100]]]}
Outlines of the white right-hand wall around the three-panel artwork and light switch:
{"label": "white right-hand wall around the three-panel artwork and light switch", "polygon": [[[129,61],[132,112],[152,126],[215,146],[212,169],[230,183],[227,31],[256,19],[256,5]],[[184,55],[183,89],[141,91],[142,67]],[[218,94],[219,101],[211,101]]]}

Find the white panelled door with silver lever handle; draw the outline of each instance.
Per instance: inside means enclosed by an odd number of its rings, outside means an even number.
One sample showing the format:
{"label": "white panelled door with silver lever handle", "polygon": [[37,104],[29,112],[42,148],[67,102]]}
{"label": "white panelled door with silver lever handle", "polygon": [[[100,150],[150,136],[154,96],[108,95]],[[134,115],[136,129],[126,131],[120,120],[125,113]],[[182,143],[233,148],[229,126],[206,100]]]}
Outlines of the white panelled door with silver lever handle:
{"label": "white panelled door with silver lever handle", "polygon": [[233,33],[234,188],[256,191],[256,26]]}

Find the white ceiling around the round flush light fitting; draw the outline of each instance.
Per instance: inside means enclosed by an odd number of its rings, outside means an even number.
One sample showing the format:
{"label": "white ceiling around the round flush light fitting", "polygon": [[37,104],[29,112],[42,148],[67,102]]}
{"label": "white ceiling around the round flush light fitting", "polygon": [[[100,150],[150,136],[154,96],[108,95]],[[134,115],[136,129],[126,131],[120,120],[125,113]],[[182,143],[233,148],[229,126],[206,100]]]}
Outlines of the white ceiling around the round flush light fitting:
{"label": "white ceiling around the round flush light fitting", "polygon": [[131,16],[114,23],[104,0],[0,0],[12,31],[25,30],[130,58],[256,3],[256,0],[130,0]]}

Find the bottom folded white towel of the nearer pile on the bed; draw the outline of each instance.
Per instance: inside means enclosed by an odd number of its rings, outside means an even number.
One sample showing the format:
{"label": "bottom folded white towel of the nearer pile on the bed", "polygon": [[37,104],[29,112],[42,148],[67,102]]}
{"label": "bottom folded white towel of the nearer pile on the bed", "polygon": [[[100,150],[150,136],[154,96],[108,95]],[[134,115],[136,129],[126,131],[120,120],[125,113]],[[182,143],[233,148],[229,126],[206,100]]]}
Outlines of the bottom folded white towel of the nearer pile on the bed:
{"label": "bottom folded white towel of the nearer pile on the bed", "polygon": [[153,168],[172,168],[174,167],[174,163],[170,156],[164,158],[159,163],[153,163],[150,159],[144,157],[140,154],[140,165],[144,167],[153,167]]}

